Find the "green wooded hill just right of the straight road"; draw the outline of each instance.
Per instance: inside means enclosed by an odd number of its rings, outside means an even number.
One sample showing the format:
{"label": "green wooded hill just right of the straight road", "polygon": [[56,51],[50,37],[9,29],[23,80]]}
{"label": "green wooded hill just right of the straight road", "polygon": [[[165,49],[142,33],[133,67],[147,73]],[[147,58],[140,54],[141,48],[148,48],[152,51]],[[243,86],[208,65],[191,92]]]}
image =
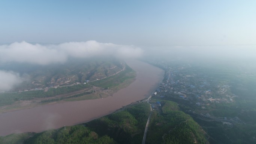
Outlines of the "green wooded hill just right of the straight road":
{"label": "green wooded hill just right of the straight road", "polygon": [[205,132],[176,102],[162,101],[152,112],[147,144],[207,144]]}

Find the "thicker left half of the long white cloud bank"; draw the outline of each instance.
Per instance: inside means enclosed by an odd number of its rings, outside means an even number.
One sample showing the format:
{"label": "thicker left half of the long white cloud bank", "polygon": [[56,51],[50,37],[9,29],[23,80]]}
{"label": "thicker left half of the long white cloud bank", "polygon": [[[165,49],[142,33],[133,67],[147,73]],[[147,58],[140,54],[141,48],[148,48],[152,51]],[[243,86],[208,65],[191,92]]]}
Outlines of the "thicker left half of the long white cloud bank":
{"label": "thicker left half of the long white cloud bank", "polygon": [[52,62],[66,61],[65,53],[39,44],[32,45],[27,42],[15,42],[0,46],[0,62],[25,62],[45,65]]}

